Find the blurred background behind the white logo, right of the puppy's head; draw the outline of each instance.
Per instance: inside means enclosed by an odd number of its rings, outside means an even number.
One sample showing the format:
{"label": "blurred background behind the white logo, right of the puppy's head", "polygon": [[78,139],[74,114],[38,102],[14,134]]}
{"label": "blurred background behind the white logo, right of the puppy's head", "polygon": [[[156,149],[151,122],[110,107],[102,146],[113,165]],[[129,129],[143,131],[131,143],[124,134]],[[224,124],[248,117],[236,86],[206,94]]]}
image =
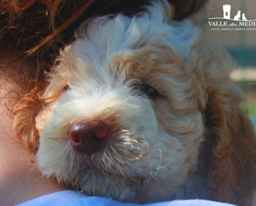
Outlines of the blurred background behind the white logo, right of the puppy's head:
{"label": "blurred background behind the white logo, right of the puppy's head", "polygon": [[[254,26],[230,26],[233,20],[209,19],[223,18],[223,5],[230,5],[230,19],[240,11]],[[252,21],[255,20],[255,21]],[[228,26],[210,26],[208,22],[228,22]],[[243,22],[243,21],[241,21]],[[255,0],[209,0],[207,7],[198,16],[198,23],[216,42],[222,44],[233,58],[237,67],[231,77],[244,91],[246,102],[242,107],[248,109],[250,118],[256,128],[256,1]],[[220,28],[220,30],[213,30]],[[221,30],[234,28],[245,30]],[[247,30],[248,28],[252,30]],[[255,29],[255,30],[253,30]]]}

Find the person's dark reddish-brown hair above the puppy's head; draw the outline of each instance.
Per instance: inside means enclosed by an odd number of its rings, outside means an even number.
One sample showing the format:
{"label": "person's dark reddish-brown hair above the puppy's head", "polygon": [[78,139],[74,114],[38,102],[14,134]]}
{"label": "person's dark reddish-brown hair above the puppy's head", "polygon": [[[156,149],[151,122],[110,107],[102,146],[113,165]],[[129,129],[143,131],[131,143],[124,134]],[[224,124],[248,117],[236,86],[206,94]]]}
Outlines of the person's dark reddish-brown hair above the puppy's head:
{"label": "person's dark reddish-brown hair above the puppy's head", "polygon": [[[160,1],[160,0],[159,0]],[[198,12],[207,0],[169,0],[174,20],[182,21]],[[147,0],[8,0],[0,3],[1,59],[29,59],[34,67],[27,73],[43,77],[59,49],[73,41],[73,33],[88,18],[123,12],[132,15],[149,4]],[[13,61],[11,61],[13,64]]]}

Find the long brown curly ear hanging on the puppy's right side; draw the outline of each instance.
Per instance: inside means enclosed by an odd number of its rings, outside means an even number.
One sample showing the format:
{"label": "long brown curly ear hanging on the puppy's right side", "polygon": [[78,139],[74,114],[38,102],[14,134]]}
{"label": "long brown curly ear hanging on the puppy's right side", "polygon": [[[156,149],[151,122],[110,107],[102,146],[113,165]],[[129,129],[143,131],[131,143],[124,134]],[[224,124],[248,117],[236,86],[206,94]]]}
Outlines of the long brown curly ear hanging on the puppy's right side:
{"label": "long brown curly ear hanging on the puppy's right side", "polygon": [[207,198],[248,206],[256,187],[256,143],[242,101],[235,85],[225,94],[218,87],[208,91],[206,142],[212,142],[213,159]]}

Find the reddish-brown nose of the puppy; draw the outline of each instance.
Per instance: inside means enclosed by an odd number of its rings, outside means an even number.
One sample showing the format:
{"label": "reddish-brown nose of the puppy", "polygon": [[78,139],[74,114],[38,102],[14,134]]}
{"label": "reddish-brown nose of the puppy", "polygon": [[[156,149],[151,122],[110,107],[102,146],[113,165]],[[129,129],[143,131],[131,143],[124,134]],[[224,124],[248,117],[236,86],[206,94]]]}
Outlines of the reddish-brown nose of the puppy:
{"label": "reddish-brown nose of the puppy", "polygon": [[100,121],[83,121],[70,129],[73,147],[85,153],[92,153],[102,148],[108,137],[108,125]]}

